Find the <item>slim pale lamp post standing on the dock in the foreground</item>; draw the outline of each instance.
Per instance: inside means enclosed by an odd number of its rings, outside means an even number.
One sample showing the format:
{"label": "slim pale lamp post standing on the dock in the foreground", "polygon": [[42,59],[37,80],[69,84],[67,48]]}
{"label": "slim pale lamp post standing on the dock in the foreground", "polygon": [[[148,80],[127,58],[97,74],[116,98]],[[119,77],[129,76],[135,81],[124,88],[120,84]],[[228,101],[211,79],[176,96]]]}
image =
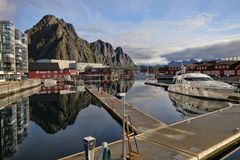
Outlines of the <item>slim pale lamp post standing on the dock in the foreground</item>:
{"label": "slim pale lamp post standing on the dock in the foreground", "polygon": [[123,107],[123,133],[122,133],[122,160],[126,160],[126,148],[125,148],[125,93],[118,93],[119,97],[122,97]]}

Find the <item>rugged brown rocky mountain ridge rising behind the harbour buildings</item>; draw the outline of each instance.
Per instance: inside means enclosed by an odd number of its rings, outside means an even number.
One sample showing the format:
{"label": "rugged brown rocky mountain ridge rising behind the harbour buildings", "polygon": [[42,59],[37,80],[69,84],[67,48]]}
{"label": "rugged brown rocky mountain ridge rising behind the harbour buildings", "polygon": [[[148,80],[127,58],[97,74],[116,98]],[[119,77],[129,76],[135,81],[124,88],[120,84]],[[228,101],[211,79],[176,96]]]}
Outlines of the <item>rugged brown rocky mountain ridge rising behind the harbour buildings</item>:
{"label": "rugged brown rocky mountain ridge rising behind the harbour buildings", "polygon": [[89,43],[78,37],[72,24],[52,15],[44,16],[27,30],[29,59],[63,59],[77,62],[104,63],[114,67],[132,68],[132,59],[121,47],[97,40]]}

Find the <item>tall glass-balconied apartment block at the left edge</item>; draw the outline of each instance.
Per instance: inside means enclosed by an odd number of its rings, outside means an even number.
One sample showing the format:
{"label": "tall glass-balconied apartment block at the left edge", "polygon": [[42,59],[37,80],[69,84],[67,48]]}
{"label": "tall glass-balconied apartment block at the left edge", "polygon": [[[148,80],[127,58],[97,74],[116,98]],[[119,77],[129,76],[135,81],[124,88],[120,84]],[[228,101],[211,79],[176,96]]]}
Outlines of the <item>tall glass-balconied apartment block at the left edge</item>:
{"label": "tall glass-balconied apartment block at the left edge", "polygon": [[16,79],[28,69],[27,35],[8,20],[0,21],[0,81]]}

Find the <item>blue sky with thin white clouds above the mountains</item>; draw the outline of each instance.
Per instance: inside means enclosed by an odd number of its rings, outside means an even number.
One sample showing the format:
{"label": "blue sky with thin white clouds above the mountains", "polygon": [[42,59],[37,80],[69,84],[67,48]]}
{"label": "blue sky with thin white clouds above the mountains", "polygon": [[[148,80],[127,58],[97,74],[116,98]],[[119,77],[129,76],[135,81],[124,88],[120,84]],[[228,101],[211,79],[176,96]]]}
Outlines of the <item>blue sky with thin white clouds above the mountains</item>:
{"label": "blue sky with thin white clouds above the mountains", "polygon": [[138,64],[240,40],[240,0],[0,0],[0,18],[23,31],[46,14],[72,23],[90,42],[122,46]]}

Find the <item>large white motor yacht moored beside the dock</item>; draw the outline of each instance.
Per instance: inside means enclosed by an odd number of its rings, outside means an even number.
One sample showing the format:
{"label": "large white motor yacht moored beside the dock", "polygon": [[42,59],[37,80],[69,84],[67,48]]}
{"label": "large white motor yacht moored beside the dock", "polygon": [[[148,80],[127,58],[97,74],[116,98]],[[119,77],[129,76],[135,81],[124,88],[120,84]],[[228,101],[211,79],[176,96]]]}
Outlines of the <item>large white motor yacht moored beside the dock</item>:
{"label": "large white motor yacht moored beside the dock", "polygon": [[235,87],[224,82],[215,81],[202,73],[185,73],[173,77],[173,84],[168,91],[184,95],[226,100],[234,93]]}

